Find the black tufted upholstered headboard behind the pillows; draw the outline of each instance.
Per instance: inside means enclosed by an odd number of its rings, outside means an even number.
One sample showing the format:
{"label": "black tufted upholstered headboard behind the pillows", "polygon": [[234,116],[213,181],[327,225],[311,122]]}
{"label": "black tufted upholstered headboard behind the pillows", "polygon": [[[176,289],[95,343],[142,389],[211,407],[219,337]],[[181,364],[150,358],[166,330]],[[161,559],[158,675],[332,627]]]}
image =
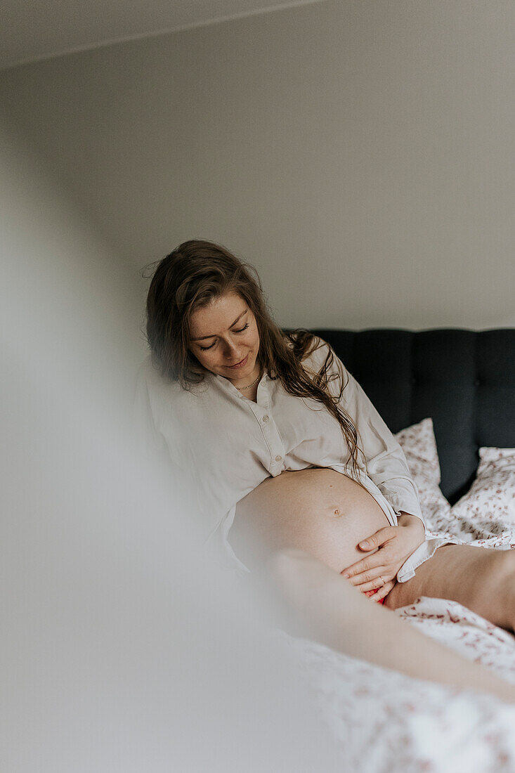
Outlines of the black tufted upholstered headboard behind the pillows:
{"label": "black tufted upholstered headboard behind the pillows", "polygon": [[451,504],[472,484],[480,446],[515,448],[515,328],[312,332],[333,346],[392,432],[432,418]]}

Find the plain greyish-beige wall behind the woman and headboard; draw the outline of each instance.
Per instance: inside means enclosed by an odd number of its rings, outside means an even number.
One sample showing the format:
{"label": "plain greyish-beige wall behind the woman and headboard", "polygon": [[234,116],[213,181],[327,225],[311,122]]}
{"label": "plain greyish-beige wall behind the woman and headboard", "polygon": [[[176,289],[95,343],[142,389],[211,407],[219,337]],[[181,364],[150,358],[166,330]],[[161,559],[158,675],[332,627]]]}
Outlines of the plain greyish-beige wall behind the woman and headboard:
{"label": "plain greyish-beige wall behind the woman and headboard", "polygon": [[510,326],[514,22],[329,0],[6,70],[0,96],[127,272],[142,346],[138,270],[193,237],[254,263],[281,325]]}

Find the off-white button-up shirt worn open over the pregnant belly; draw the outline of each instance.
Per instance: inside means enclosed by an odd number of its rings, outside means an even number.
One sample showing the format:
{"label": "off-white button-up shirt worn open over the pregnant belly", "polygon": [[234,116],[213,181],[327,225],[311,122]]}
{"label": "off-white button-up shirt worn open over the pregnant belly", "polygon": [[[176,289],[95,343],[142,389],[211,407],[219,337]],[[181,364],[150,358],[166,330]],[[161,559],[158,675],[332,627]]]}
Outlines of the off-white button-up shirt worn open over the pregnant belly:
{"label": "off-white button-up shirt worn open over the pregnant belly", "polygon": [[[314,373],[325,361],[329,346],[322,339],[319,342],[319,349],[303,361]],[[346,383],[340,405],[358,431],[365,457],[358,454],[361,482],[392,526],[397,525],[401,510],[424,523],[401,446],[336,354],[328,373],[335,376],[329,381],[332,393],[339,394],[341,376]],[[206,539],[221,539],[227,555],[240,567],[227,533],[237,502],[264,478],[309,467],[350,474],[349,449],[333,415],[317,400],[288,394],[280,380],[266,373],[254,403],[228,379],[209,372],[193,390],[183,390],[179,383],[163,379],[148,355],[138,373],[135,408],[148,442],[161,446],[172,464],[191,479]],[[428,557],[427,550],[423,556],[420,548],[416,553],[421,560]],[[413,576],[408,562],[398,579]]]}

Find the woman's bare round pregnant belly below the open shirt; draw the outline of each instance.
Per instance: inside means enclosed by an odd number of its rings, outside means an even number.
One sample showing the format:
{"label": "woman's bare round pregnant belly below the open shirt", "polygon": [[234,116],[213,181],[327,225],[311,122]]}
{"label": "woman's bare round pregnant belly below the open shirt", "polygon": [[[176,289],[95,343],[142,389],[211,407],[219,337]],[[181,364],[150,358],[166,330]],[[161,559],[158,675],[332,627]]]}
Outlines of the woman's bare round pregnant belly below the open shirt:
{"label": "woman's bare round pregnant belly below the open shirt", "polygon": [[373,496],[352,478],[307,468],[266,478],[241,499],[229,541],[249,568],[271,550],[298,547],[342,571],[367,554],[358,543],[388,525]]}

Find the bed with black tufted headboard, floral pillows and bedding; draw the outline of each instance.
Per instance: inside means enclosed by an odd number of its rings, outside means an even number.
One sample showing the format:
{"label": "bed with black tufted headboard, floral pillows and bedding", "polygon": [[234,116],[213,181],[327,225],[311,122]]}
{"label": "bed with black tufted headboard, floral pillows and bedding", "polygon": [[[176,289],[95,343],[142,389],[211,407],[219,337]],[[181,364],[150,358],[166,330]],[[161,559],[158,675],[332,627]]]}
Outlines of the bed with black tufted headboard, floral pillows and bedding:
{"label": "bed with black tufted headboard, floral pillows and bedding", "polygon": [[[313,329],[401,443],[431,534],[515,547],[515,329]],[[515,683],[515,637],[452,601],[399,615]],[[515,770],[515,706],[286,637],[346,769]]]}

